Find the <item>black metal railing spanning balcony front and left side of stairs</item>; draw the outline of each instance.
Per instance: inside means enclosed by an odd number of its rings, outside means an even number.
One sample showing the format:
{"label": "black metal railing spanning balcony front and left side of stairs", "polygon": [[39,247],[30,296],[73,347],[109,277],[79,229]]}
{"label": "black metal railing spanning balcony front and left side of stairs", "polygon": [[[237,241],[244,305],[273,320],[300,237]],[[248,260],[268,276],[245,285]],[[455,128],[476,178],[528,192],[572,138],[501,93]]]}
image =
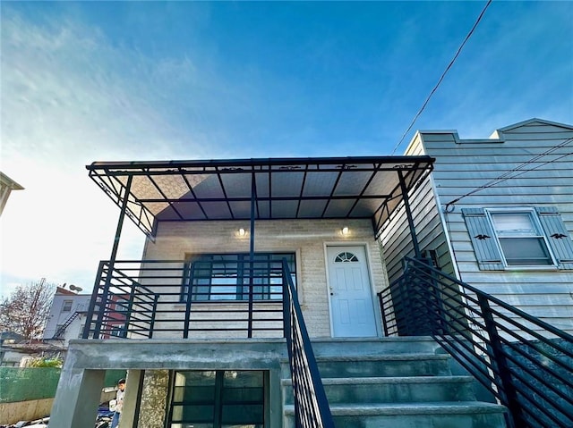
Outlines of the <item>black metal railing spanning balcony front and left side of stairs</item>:
{"label": "black metal railing spanning balcony front and left side of stairs", "polygon": [[332,428],[289,263],[100,262],[83,338],[285,337],[296,426]]}

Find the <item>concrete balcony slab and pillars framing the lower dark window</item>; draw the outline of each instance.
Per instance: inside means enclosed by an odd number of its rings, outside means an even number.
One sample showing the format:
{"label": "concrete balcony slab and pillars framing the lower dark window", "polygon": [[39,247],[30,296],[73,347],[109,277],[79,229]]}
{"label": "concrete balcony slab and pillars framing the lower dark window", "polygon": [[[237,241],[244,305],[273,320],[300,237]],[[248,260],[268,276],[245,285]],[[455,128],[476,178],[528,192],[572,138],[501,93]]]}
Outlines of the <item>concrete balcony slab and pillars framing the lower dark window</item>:
{"label": "concrete balcony slab and pillars framing the lower dark window", "polygon": [[95,391],[111,368],[128,371],[122,428],[164,426],[170,370],[266,370],[269,427],[280,426],[280,362],[286,358],[284,339],[72,340],[50,422],[57,428],[91,426],[98,407]]}

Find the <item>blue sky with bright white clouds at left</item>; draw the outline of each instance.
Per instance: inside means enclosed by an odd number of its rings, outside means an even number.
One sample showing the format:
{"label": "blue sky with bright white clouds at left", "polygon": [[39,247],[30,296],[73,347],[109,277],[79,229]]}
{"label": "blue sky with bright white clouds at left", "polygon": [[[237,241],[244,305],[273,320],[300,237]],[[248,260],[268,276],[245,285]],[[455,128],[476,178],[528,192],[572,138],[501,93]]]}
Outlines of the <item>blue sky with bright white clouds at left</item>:
{"label": "blue sky with bright white clouds at left", "polygon": [[[2,2],[0,293],[91,290],[118,215],[93,161],[390,155],[484,5]],[[396,154],[532,117],[573,123],[573,2],[494,1]]]}

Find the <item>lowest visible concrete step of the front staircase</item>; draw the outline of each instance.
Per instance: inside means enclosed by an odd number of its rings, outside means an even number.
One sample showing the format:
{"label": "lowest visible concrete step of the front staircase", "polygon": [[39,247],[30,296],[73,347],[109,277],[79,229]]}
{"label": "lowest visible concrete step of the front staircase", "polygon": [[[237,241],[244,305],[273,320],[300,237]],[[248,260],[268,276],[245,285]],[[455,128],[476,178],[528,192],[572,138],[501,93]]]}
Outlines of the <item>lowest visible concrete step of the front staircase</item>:
{"label": "lowest visible concrete step of the front staircase", "polygon": [[[330,406],[338,428],[506,428],[504,409],[475,401]],[[284,428],[294,428],[295,407],[284,415]]]}

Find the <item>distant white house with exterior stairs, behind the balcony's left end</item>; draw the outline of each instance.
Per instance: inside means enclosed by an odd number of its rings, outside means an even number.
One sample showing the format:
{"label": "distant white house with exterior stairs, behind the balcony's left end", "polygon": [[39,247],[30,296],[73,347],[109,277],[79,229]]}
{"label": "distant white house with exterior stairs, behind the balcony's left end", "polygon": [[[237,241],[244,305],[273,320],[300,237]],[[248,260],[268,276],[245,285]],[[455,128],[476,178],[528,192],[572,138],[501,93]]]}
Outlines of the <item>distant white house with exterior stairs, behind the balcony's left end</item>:
{"label": "distant white house with exterior stairs, behind the balcony's left end", "polygon": [[50,313],[44,329],[44,340],[56,340],[59,345],[67,347],[71,339],[81,338],[86,314],[90,306],[90,294],[78,294],[78,287],[70,285],[69,289],[57,287]]}

